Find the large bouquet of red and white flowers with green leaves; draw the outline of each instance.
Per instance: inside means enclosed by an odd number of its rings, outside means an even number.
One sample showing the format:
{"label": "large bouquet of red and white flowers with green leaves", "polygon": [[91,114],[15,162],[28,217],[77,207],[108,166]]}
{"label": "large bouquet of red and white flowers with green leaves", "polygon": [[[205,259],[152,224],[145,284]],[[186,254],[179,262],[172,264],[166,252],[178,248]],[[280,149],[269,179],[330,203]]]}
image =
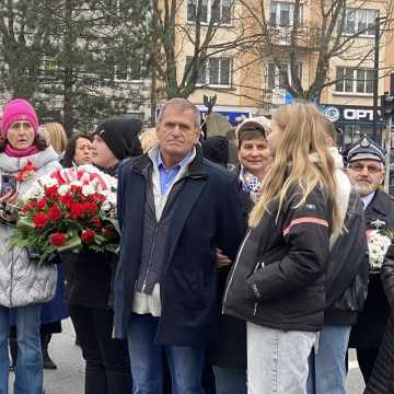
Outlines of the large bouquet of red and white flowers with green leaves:
{"label": "large bouquet of red and white flowers with green leaves", "polygon": [[23,196],[13,245],[34,248],[38,264],[57,253],[118,248],[117,179],[93,165],[61,169],[40,177]]}

